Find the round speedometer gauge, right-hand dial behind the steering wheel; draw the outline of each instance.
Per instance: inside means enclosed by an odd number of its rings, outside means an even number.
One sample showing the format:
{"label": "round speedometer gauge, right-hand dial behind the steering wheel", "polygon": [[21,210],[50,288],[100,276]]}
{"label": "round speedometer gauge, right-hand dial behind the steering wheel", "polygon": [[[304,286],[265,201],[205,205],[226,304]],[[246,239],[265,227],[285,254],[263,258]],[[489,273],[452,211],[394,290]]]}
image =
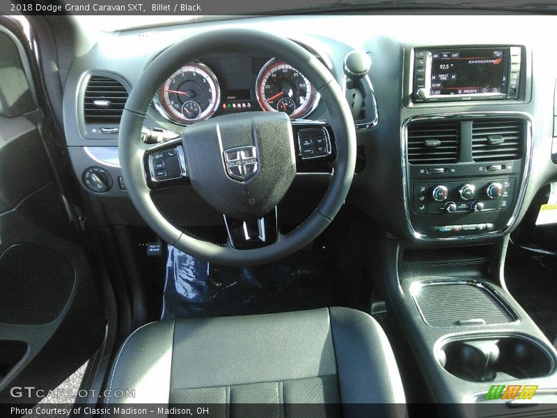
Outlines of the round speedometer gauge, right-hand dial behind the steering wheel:
{"label": "round speedometer gauge, right-hand dial behind the steering wheel", "polygon": [[317,96],[301,72],[276,59],[259,72],[256,95],[263,110],[282,111],[292,119],[306,116],[313,109]]}

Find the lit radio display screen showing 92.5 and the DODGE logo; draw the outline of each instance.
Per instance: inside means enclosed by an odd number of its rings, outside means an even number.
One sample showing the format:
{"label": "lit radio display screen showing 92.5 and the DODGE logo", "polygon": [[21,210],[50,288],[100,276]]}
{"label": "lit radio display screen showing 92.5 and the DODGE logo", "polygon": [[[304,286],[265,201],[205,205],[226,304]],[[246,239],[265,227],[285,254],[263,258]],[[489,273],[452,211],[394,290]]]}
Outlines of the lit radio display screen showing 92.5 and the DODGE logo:
{"label": "lit radio display screen showing 92.5 and the DODGE logo", "polygon": [[508,48],[466,48],[429,52],[430,95],[507,93]]}

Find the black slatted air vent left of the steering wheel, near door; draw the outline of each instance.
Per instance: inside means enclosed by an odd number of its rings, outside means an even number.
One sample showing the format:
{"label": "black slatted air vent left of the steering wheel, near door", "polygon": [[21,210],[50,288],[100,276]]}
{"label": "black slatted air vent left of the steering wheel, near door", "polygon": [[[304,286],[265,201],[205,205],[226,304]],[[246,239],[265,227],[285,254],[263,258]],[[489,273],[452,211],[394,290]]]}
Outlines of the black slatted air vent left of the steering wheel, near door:
{"label": "black slatted air vent left of the steering wheel, near door", "polygon": [[127,95],[127,89],[117,79],[92,75],[84,95],[85,122],[118,125]]}

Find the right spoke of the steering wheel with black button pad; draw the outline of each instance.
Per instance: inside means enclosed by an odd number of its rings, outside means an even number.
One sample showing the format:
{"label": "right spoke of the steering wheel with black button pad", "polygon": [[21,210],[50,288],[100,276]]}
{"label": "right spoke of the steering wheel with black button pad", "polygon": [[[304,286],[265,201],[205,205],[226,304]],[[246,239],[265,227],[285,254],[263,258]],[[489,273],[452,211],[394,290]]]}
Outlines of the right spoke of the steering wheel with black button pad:
{"label": "right spoke of the steering wheel with black button pad", "polygon": [[296,149],[297,171],[330,172],[336,159],[334,132],[322,121],[292,121],[292,137]]}

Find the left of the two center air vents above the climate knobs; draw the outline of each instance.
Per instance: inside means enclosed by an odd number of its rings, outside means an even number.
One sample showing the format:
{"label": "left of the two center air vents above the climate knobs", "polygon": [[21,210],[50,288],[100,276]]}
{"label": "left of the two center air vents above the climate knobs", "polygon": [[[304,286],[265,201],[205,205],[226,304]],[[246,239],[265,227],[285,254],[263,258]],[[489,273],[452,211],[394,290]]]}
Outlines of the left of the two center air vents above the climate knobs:
{"label": "left of the two center air vents above the climate knobs", "polygon": [[457,162],[460,124],[455,121],[418,121],[408,126],[410,164]]}

